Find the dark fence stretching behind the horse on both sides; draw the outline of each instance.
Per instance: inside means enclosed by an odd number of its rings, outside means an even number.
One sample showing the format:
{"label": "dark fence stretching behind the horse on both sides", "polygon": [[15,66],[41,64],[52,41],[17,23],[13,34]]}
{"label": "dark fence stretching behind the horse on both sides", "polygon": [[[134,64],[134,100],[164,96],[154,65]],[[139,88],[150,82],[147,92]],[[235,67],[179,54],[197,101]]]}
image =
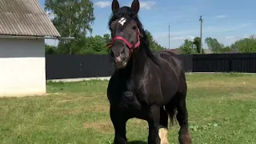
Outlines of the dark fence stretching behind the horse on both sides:
{"label": "dark fence stretching behind the horse on both sides", "polygon": [[[256,72],[255,54],[178,54],[186,72]],[[46,54],[46,79],[108,77],[106,54]]]}

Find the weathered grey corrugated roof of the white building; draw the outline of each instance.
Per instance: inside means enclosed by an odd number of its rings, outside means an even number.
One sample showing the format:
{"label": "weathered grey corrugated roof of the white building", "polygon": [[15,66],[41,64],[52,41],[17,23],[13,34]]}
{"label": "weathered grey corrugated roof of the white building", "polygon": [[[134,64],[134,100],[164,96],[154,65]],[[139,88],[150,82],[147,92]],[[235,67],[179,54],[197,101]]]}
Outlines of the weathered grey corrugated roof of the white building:
{"label": "weathered grey corrugated roof of the white building", "polygon": [[38,0],[0,0],[0,35],[60,36]]}

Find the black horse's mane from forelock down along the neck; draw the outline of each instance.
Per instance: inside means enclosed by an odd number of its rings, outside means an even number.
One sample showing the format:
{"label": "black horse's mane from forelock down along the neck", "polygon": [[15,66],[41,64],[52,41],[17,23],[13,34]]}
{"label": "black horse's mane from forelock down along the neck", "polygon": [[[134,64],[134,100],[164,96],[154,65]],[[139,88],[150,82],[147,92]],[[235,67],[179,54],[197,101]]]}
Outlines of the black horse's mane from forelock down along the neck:
{"label": "black horse's mane from forelock down along the neck", "polygon": [[140,20],[138,19],[138,15],[134,14],[134,12],[130,9],[129,6],[123,6],[117,12],[112,13],[110,15],[110,20],[108,22],[109,28],[110,28],[111,22],[114,22],[119,18],[131,18],[135,22],[137,22],[138,29],[142,34],[141,42],[143,43],[143,48],[146,50],[146,54],[149,58],[154,58],[154,54],[152,53],[152,50],[150,50],[149,39],[147,38],[146,32],[142,26],[142,22],[140,22]]}

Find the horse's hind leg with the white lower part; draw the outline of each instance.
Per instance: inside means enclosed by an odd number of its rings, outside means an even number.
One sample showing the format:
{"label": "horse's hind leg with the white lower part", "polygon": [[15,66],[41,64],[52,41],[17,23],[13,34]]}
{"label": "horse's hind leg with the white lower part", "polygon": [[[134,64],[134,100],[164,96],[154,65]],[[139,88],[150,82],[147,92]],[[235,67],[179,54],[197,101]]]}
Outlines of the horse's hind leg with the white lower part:
{"label": "horse's hind leg with the white lower part", "polygon": [[161,144],[169,144],[168,142],[168,114],[164,110],[163,106],[160,109],[160,121],[159,121],[159,137],[161,139]]}

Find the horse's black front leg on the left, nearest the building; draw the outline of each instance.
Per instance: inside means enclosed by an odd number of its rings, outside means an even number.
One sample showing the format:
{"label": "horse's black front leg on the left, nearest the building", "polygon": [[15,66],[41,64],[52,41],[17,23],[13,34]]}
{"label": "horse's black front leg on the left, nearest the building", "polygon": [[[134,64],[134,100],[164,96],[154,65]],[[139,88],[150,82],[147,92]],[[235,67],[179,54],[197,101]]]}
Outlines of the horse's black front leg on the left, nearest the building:
{"label": "horse's black front leg on the left, nearest the building", "polygon": [[110,106],[110,118],[114,126],[114,144],[126,144],[126,122],[127,118],[118,107]]}

